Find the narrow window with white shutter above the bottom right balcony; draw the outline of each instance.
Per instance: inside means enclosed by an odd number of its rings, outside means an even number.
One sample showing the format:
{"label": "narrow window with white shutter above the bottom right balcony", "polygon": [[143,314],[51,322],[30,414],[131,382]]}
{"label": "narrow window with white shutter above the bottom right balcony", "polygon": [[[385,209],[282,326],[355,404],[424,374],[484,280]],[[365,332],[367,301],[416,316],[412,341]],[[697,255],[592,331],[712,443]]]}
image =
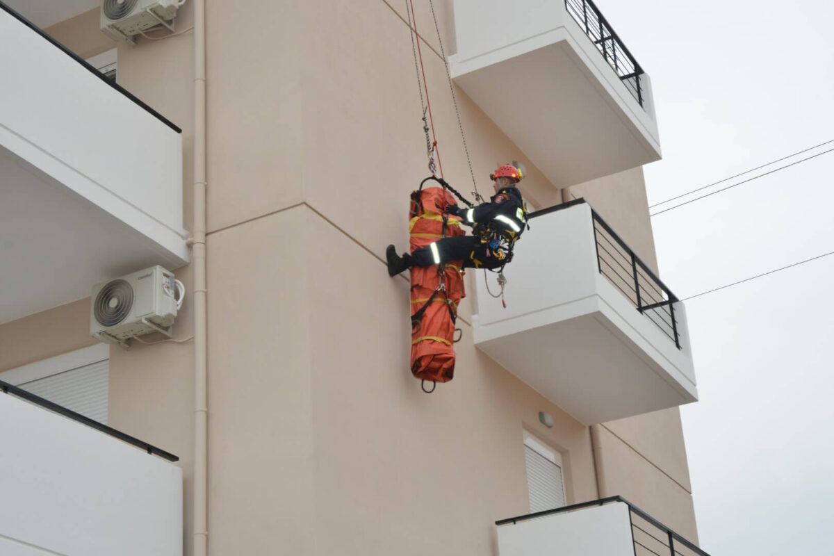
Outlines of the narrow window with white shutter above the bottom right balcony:
{"label": "narrow window with white shutter above the bottom right balcony", "polygon": [[524,449],[530,513],[561,508],[565,505],[565,480],[560,453],[526,431]]}

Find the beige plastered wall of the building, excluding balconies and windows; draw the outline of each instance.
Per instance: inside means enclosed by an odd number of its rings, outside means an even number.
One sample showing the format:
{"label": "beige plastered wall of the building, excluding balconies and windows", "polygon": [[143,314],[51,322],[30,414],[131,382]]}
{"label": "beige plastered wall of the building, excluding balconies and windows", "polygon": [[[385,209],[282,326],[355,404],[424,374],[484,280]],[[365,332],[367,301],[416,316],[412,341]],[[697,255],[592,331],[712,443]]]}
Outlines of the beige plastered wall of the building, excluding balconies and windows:
{"label": "beige plastered wall of the building, excluding balconies and windows", "polygon": [[[676,409],[605,423],[592,449],[589,428],[474,348],[471,296],[455,380],[426,395],[411,378],[408,282],[383,263],[388,243],[407,245],[408,195],[427,175],[399,4],[208,3],[210,550],[497,553],[495,519],[529,511],[525,428],[562,454],[568,503],[620,493],[694,538]],[[415,8],[445,177],[469,196],[431,14]],[[451,0],[435,10],[448,55]],[[187,3],[179,28],[191,18]],[[84,55],[110,48],[96,11],[50,31]],[[191,41],[118,50],[119,83],[183,128],[187,223]],[[519,160],[534,206],[558,203],[560,191],[457,92],[481,193],[495,163]],[[572,191],[656,268],[641,168]],[[187,267],[178,277],[190,287]],[[0,369],[93,343],[88,318],[82,300],[0,326]],[[48,333],[30,338],[43,323]],[[191,329],[187,298],[176,335]],[[182,458],[186,553],[191,346],[113,348],[110,383],[113,426]]]}

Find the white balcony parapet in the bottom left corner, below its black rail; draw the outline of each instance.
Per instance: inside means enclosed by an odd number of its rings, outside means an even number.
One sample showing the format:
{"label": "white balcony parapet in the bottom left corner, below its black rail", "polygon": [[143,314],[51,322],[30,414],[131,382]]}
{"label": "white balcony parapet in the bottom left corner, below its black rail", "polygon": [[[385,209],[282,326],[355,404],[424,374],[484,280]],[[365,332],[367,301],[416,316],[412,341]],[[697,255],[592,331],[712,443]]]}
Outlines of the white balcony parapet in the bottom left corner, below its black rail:
{"label": "white balcony parapet in the bottom left corner, below its black rail", "polygon": [[181,556],[173,463],[0,393],[0,553]]}

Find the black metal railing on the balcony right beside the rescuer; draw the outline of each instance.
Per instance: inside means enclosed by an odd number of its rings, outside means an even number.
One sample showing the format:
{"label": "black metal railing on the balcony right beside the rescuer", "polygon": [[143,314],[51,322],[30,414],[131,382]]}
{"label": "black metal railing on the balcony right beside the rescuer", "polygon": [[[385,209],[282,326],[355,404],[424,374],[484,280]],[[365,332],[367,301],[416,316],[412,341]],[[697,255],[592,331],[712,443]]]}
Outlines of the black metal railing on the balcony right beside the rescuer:
{"label": "black metal railing on the balcony right beside the rescuer", "polygon": [[[530,213],[528,219],[581,203],[585,203],[585,199],[574,199],[569,203],[544,208]],[[675,343],[676,348],[680,349],[681,334],[675,317],[675,303],[680,300],[593,208],[590,208],[590,214],[593,218],[596,262],[600,274],[608,278],[608,281],[631,301],[637,311],[655,323],[656,327]]]}

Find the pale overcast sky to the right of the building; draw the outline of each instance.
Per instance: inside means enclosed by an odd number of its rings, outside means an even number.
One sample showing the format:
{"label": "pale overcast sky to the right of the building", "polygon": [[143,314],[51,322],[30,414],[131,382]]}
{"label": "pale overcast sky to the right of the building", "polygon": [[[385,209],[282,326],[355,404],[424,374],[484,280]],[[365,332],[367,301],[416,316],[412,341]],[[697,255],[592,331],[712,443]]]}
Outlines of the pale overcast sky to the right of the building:
{"label": "pale overcast sky to the right of the building", "polygon": [[[834,139],[834,3],[595,2],[652,78],[650,205]],[[832,174],[822,154],[658,214],[661,278],[686,298],[834,251]],[[834,255],[686,302],[701,401],[681,413],[713,556],[834,554],[832,276]]]}

